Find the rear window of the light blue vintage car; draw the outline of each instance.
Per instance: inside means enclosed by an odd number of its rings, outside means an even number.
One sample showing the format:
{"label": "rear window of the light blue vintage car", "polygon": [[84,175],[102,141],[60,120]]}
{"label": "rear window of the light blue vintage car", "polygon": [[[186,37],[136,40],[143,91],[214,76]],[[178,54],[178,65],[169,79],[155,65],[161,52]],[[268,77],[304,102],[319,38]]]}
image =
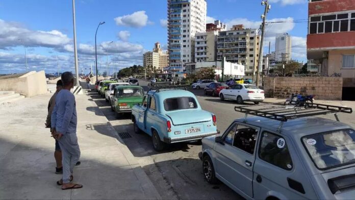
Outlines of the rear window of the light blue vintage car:
{"label": "rear window of the light blue vintage car", "polygon": [[165,111],[195,109],[195,108],[197,108],[197,104],[193,97],[184,96],[184,97],[167,98],[164,100]]}

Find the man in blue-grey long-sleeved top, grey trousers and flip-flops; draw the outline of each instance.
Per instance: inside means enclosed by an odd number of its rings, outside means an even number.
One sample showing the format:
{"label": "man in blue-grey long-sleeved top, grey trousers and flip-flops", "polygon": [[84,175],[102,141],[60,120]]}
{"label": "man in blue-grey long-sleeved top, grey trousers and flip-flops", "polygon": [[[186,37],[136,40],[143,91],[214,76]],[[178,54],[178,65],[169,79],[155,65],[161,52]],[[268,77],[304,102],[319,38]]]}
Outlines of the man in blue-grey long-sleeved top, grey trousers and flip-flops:
{"label": "man in blue-grey long-sleeved top, grey trousers and flip-flops", "polygon": [[63,178],[57,181],[62,190],[78,189],[83,185],[70,183],[75,164],[80,158],[80,148],[77,137],[77,110],[75,97],[70,92],[74,86],[73,74],[62,73],[63,89],[56,96],[56,105],[52,112],[52,135],[58,140],[62,150]]}

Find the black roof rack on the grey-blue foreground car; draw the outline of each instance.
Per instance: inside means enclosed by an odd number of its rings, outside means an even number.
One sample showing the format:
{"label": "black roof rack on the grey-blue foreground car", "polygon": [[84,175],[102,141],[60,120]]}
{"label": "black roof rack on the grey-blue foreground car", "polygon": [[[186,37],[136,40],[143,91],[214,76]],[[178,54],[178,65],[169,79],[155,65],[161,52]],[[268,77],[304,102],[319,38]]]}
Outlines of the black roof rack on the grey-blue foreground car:
{"label": "black roof rack on the grey-blue foreground car", "polygon": [[236,106],[234,110],[237,112],[245,113],[245,118],[249,114],[282,122],[285,122],[288,119],[325,115],[330,113],[335,113],[335,117],[337,121],[339,121],[337,113],[352,113],[352,109],[349,107],[340,107],[315,103],[305,103],[304,106],[285,106],[284,103],[273,103],[253,106]]}

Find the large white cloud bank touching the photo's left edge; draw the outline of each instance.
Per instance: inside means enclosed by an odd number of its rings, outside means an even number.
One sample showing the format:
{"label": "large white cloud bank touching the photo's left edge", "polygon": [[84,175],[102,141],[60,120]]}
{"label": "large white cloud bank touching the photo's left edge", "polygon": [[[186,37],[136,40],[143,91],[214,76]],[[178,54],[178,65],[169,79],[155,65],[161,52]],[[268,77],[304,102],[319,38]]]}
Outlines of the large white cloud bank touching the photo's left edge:
{"label": "large white cloud bank touching the photo's left edge", "polygon": [[28,47],[59,47],[71,42],[67,35],[57,30],[34,31],[16,22],[0,19],[0,49],[24,45]]}

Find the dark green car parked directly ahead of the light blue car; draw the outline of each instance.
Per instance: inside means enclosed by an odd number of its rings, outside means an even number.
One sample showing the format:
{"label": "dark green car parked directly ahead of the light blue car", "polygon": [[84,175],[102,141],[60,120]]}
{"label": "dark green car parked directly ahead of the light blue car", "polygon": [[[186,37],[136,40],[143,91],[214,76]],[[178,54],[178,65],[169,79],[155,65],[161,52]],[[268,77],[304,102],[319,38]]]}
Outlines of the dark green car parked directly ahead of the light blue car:
{"label": "dark green car parked directly ahead of the light blue car", "polygon": [[134,105],[143,102],[144,91],[140,86],[116,86],[111,95],[111,110],[118,119],[123,113],[131,113]]}

